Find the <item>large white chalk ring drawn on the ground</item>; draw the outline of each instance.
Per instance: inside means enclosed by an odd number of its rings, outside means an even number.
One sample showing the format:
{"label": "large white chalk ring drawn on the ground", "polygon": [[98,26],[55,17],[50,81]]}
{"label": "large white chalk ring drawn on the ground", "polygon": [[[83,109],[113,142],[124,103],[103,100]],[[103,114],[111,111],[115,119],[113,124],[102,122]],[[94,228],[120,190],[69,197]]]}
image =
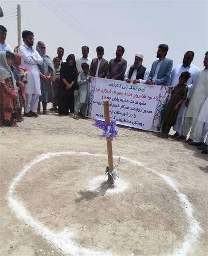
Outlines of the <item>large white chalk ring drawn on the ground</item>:
{"label": "large white chalk ring drawn on the ground", "polygon": [[[104,154],[90,154],[88,152],[75,152],[75,151],[68,151],[68,152],[56,152],[56,153],[48,153],[48,154],[41,154],[40,156],[36,157],[31,163],[27,164],[23,170],[12,180],[11,185],[9,186],[9,191],[7,194],[7,199],[9,203],[9,207],[12,211],[15,212],[17,218],[22,219],[26,224],[33,228],[35,233],[42,236],[46,241],[49,241],[52,246],[54,246],[57,250],[61,249],[61,252],[66,256],[116,256],[116,254],[110,251],[97,251],[93,250],[93,248],[83,248],[75,243],[73,237],[75,234],[72,230],[64,229],[60,233],[54,233],[49,228],[45,227],[43,223],[32,217],[30,212],[26,209],[22,202],[18,200],[18,198],[14,195],[15,188],[17,184],[20,182],[21,178],[29,171],[29,169],[34,166],[36,163],[40,163],[43,160],[49,159],[51,157],[56,157],[60,155],[79,155],[79,156],[95,156],[95,157],[106,157]],[[118,156],[114,156],[118,158]],[[142,163],[129,159],[127,157],[121,157],[121,160],[127,160],[130,163],[136,164],[137,166],[143,166],[146,170],[153,172],[154,174],[161,177],[165,182],[176,192],[176,195],[179,198],[179,201],[182,204],[184,212],[187,216],[188,220],[188,233],[185,235],[185,238],[180,245],[173,250],[171,253],[172,256],[187,256],[189,252],[191,252],[199,238],[200,233],[202,232],[202,228],[200,224],[193,216],[194,209],[191,203],[188,201],[188,198],[185,194],[179,191],[174,181],[160,172],[156,170],[146,168]]]}

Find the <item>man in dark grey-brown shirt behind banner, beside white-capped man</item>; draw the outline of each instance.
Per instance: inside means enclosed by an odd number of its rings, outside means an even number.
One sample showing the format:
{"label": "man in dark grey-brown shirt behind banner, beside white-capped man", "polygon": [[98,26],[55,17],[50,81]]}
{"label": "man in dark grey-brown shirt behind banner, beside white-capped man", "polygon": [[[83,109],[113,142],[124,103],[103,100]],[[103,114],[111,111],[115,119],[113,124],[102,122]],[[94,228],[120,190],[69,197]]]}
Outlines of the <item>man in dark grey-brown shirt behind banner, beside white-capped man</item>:
{"label": "man in dark grey-brown shirt behind banner, beside white-capped man", "polygon": [[127,61],[122,58],[124,54],[124,47],[121,45],[117,46],[116,58],[110,60],[107,67],[107,78],[115,80],[124,80],[124,75],[127,69]]}

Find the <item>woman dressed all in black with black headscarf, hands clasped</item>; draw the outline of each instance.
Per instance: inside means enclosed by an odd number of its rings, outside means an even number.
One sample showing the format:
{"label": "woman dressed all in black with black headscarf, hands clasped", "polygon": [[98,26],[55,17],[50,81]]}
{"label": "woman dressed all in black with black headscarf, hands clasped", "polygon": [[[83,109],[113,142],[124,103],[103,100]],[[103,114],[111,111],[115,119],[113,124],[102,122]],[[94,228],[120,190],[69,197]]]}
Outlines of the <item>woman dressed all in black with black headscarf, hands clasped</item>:
{"label": "woman dressed all in black with black headscarf, hands clasped", "polygon": [[58,113],[59,115],[69,115],[74,113],[74,91],[77,83],[77,68],[75,55],[69,54],[66,62],[61,64],[61,81],[58,91]]}

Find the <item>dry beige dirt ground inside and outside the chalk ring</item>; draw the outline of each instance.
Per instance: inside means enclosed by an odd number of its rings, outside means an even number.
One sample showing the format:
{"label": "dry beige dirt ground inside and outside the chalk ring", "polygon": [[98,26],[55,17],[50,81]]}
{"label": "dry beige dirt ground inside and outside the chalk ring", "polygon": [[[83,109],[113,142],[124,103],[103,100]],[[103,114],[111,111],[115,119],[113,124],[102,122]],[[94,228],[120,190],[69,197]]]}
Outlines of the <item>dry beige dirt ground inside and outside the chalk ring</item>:
{"label": "dry beige dirt ground inside and outside the chalk ring", "polygon": [[[0,129],[0,255],[85,255],[76,254],[74,248],[64,254],[35,233],[9,207],[7,193],[14,177],[40,154],[106,154],[105,140],[97,137],[101,130],[92,123],[90,119],[75,120],[50,112],[25,118],[18,128]],[[113,140],[113,153],[144,164],[137,166],[121,159],[119,176],[129,183],[121,193],[102,197],[87,191],[92,178],[103,175],[105,180],[106,156],[60,155],[33,165],[14,194],[44,227],[54,233],[65,228],[74,233],[72,240],[80,248],[116,256],[173,255],[189,231],[188,217],[176,192],[145,169],[151,168],[176,183],[202,227],[196,246],[188,255],[208,255],[207,156],[194,146],[171,138],[165,140],[151,132],[121,127]]]}

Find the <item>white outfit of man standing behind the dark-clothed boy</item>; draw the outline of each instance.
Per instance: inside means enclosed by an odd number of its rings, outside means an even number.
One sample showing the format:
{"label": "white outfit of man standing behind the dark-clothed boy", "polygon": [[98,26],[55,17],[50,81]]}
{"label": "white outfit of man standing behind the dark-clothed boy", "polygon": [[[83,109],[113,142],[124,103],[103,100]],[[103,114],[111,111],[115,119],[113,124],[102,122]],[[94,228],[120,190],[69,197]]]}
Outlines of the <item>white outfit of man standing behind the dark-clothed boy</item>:
{"label": "white outfit of man standing behind the dark-clothed boy", "polygon": [[[168,85],[175,87],[179,82],[180,74],[185,71],[188,71],[189,73],[191,73],[191,77],[187,81],[187,85],[188,85],[187,96],[189,96],[189,94],[191,93],[191,88],[193,86],[194,79],[196,78],[197,74],[199,73],[199,68],[196,67],[195,65],[191,64],[188,67],[184,67],[183,65],[176,66],[170,74],[170,80],[168,82]],[[179,134],[181,133],[186,109],[187,108],[185,106],[185,101],[184,101],[179,109],[176,124],[173,126],[173,130],[177,131]]]}

